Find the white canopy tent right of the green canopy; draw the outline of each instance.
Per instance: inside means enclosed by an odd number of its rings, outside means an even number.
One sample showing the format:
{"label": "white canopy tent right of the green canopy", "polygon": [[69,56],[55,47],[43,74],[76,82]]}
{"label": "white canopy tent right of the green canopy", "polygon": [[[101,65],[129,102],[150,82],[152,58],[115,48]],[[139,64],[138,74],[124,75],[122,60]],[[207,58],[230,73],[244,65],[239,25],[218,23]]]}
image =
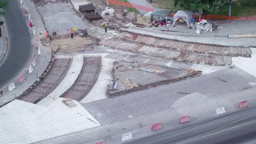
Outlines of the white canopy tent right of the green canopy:
{"label": "white canopy tent right of the green canopy", "polygon": [[182,18],[185,22],[187,22],[187,27],[188,27],[191,23],[191,19],[193,18],[192,17],[192,12],[186,11],[186,10],[179,10],[177,13],[174,14],[174,23],[173,23],[173,25],[175,25],[175,22],[177,20],[179,20],[179,18]]}

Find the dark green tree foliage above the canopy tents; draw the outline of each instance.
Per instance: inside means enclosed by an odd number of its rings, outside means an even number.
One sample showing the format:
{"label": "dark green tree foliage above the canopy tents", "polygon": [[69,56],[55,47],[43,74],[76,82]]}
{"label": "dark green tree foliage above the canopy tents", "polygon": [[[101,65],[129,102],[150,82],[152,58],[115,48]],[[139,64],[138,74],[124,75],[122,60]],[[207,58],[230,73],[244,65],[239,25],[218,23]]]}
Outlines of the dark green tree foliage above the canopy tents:
{"label": "dark green tree foliage above the canopy tents", "polygon": [[179,5],[185,10],[207,14],[209,12],[218,13],[219,7],[228,2],[228,0],[174,0],[174,6]]}

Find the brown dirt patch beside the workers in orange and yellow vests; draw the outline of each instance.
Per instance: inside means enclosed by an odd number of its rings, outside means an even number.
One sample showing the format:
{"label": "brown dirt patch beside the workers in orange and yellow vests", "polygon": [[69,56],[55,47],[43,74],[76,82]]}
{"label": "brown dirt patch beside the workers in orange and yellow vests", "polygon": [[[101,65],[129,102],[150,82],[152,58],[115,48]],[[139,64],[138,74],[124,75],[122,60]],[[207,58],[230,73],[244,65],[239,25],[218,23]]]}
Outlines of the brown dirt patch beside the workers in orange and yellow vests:
{"label": "brown dirt patch beside the workers in orange and yellow vests", "polygon": [[97,43],[97,39],[92,36],[81,38],[74,36],[71,39],[70,35],[58,35],[53,38],[50,46],[53,52],[57,54],[67,54],[71,52],[84,52],[93,49]]}

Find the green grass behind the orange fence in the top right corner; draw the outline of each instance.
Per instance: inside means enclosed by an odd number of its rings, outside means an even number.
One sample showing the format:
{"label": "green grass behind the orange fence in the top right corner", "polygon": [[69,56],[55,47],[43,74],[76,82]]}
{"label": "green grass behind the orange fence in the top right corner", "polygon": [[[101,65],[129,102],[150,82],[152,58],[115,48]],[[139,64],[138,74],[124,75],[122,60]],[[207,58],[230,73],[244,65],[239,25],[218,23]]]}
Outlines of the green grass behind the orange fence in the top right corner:
{"label": "green grass behind the orange fence in the top right corner", "polygon": [[[245,16],[256,15],[256,0],[238,0],[238,2],[241,3],[243,11],[240,6],[233,3],[231,5],[231,16],[244,16],[244,14]],[[228,13],[229,5],[227,4],[226,6],[220,7],[220,10],[217,13],[217,15],[228,16]]]}

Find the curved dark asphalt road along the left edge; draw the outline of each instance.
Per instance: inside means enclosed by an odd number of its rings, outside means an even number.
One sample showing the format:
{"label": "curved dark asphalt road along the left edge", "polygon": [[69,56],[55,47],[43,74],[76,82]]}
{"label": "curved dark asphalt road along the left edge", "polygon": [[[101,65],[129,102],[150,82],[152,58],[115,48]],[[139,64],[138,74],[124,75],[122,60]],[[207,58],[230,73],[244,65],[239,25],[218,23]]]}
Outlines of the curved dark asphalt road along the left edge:
{"label": "curved dark asphalt road along the left edge", "polygon": [[[1,0],[3,1],[3,0]],[[0,63],[0,88],[10,83],[26,66],[31,56],[30,33],[20,0],[9,0],[4,23],[7,30],[7,53]]]}

